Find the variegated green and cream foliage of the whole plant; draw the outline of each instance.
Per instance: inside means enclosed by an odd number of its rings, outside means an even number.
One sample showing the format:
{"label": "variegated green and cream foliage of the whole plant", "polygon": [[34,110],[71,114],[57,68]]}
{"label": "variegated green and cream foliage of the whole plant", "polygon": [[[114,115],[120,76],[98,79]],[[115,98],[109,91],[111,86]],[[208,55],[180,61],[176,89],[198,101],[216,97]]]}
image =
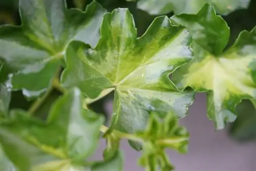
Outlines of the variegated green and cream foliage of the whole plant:
{"label": "variegated green and cream foliage of the whole plant", "polygon": [[[172,170],[165,148],[186,153],[189,134],[178,119],[195,92],[206,92],[216,129],[238,113],[231,136],[255,137],[256,28],[228,47],[230,29],[216,14],[249,1],[124,1],[130,10],[114,0],[72,3],[79,9],[19,1],[22,24],[0,27],[0,170],[122,170],[121,139],[142,150],[146,170]],[[12,105],[14,91],[29,109]],[[90,105],[111,93],[106,127]],[[100,138],[103,160],[90,161]]]}

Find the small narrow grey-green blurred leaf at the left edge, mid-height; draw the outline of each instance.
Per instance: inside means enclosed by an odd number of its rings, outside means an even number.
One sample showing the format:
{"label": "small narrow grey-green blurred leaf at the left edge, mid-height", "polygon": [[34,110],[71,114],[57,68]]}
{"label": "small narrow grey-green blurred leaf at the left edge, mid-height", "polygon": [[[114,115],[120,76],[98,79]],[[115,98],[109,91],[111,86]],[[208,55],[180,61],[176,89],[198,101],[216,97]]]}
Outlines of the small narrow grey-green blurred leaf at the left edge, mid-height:
{"label": "small narrow grey-green blurred leaf at the left edge, mid-height", "polygon": [[0,118],[6,116],[9,111],[11,91],[4,84],[0,84]]}

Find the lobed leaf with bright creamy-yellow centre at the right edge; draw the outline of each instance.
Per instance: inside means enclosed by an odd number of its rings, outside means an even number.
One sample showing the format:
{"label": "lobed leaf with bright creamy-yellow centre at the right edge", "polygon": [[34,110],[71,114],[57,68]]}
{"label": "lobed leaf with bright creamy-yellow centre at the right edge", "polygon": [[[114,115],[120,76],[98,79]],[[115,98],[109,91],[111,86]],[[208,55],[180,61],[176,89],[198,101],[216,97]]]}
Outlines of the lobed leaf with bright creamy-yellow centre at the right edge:
{"label": "lobed leaf with bright creamy-yellow centre at the right edge", "polygon": [[223,52],[229,28],[213,7],[205,5],[197,14],[171,18],[186,26],[193,37],[195,57],[179,68],[172,80],[181,90],[186,87],[207,91],[207,113],[223,129],[236,118],[235,106],[246,98],[256,98],[256,28],[243,31],[234,45]]}

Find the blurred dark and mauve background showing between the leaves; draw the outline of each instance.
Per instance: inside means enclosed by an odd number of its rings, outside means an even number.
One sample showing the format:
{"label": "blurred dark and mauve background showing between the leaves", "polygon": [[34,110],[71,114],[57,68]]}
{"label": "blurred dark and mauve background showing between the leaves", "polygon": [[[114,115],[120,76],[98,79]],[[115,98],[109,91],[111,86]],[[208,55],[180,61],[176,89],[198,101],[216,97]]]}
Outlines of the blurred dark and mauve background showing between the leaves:
{"label": "blurred dark and mauve background showing between the leaves", "polygon": [[[86,9],[91,0],[67,0],[68,8]],[[98,0],[108,11],[115,8],[129,8],[135,18],[138,36],[142,35],[156,16],[147,14],[136,8],[136,2],[125,0]],[[173,13],[167,14],[172,16]],[[242,30],[250,31],[256,25],[256,1],[251,0],[249,8],[237,10],[223,16],[231,30],[228,46],[232,45]],[[0,24],[20,25],[18,0],[0,0]],[[36,116],[44,119],[50,105],[61,95],[53,91],[46,102],[37,111]],[[90,108],[103,113],[107,122],[112,114],[113,94],[91,104]],[[25,99],[22,92],[13,92],[10,108],[28,109],[33,101]],[[244,100],[237,106],[238,118],[225,130],[215,131],[214,123],[206,115],[206,96],[197,94],[194,104],[189,109],[186,118],[180,123],[190,132],[188,154],[179,155],[169,152],[170,160],[178,171],[256,171],[256,111],[255,106]],[[100,159],[105,147],[101,140],[93,159]],[[140,152],[133,150],[126,141],[122,141],[122,151],[125,154],[124,170],[143,170],[137,166]]]}

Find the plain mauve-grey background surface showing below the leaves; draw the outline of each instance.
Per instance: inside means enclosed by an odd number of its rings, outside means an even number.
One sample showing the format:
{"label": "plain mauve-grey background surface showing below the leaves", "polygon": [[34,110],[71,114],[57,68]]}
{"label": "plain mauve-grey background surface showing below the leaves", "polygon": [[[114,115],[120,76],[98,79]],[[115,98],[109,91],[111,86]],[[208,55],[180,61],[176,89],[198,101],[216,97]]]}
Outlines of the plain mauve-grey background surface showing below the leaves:
{"label": "plain mauve-grey background surface showing below the leaves", "polygon": [[[112,113],[112,101],[105,104]],[[197,94],[188,116],[180,119],[190,132],[187,154],[168,150],[170,161],[177,171],[256,171],[256,143],[239,144],[227,136],[226,130],[215,131],[214,123],[206,115],[205,94]],[[102,139],[93,159],[101,159],[105,141]],[[124,170],[144,170],[137,165],[140,152],[132,149],[126,140],[121,142],[125,154]]]}

